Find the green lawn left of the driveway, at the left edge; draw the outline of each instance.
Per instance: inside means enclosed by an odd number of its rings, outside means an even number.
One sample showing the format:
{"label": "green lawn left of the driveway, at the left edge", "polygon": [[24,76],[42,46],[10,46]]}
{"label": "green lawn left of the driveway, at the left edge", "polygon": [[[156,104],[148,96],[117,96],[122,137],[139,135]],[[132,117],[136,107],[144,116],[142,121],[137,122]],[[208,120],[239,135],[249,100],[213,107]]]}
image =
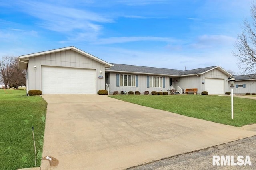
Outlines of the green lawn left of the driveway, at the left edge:
{"label": "green lawn left of the driveway, at the left edge", "polygon": [[0,90],[0,170],[40,166],[44,140],[46,102],[26,96],[26,90]]}

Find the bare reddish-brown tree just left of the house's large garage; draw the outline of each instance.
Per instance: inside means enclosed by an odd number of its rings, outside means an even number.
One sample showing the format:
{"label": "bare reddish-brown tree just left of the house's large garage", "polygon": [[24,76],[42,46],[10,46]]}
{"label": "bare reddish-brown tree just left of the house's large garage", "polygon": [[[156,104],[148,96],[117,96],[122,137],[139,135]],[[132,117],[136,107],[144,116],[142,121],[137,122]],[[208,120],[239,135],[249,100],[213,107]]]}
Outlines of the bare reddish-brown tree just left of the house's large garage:
{"label": "bare reddish-brown tree just left of the house's large garage", "polygon": [[18,89],[22,85],[26,85],[26,70],[19,69],[19,59],[16,57],[12,65],[10,86]]}

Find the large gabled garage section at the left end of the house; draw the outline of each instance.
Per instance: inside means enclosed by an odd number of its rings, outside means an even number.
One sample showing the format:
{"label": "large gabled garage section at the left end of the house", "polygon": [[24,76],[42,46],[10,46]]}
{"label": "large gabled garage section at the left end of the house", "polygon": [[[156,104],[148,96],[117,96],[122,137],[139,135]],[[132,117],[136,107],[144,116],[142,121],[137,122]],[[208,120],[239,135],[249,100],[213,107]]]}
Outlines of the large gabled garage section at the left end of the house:
{"label": "large gabled garage section at the left end of the house", "polygon": [[76,47],[65,47],[19,57],[21,69],[27,69],[28,90],[43,94],[97,94],[105,89],[105,68],[111,67]]}

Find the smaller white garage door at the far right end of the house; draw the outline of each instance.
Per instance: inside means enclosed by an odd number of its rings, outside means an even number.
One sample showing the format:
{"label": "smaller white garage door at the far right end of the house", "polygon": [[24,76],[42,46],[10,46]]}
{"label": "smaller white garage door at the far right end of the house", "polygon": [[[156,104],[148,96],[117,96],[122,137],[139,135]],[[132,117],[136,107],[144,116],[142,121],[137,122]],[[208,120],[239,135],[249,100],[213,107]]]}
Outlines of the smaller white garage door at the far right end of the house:
{"label": "smaller white garage door at the far right end of the house", "polygon": [[224,79],[205,78],[204,88],[209,94],[224,94]]}

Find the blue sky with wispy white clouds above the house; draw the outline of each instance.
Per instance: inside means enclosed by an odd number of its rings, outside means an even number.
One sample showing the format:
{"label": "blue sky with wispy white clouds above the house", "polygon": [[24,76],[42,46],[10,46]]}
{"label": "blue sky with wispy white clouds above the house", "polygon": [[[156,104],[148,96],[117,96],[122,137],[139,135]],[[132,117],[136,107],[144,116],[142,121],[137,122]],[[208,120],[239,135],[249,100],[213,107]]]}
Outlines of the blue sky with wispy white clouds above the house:
{"label": "blue sky with wispy white clouds above the house", "polygon": [[232,55],[252,0],[0,0],[0,57],[75,46],[109,63],[187,70]]}

